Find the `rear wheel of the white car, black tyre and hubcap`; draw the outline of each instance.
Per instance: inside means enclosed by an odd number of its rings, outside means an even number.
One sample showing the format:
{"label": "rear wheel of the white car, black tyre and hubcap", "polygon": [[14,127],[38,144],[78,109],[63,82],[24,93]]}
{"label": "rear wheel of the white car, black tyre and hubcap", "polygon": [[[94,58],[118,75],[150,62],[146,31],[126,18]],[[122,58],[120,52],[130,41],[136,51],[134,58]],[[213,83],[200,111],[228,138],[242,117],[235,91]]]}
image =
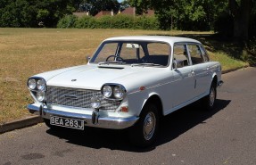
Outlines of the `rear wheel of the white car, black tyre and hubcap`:
{"label": "rear wheel of the white car, black tyre and hubcap", "polygon": [[210,88],[210,94],[202,98],[202,104],[206,110],[211,111],[214,108],[216,96],[216,84],[212,83]]}

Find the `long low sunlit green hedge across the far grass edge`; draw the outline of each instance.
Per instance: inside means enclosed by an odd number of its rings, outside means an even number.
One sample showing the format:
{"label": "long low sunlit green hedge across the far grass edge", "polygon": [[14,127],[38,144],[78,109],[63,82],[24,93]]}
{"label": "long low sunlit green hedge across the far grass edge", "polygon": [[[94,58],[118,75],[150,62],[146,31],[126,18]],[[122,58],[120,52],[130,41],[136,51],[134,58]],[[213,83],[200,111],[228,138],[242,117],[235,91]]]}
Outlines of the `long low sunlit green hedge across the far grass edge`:
{"label": "long low sunlit green hedge across the far grass edge", "polygon": [[105,15],[99,18],[75,15],[64,16],[57,25],[58,28],[78,29],[159,29],[159,21],[153,16]]}

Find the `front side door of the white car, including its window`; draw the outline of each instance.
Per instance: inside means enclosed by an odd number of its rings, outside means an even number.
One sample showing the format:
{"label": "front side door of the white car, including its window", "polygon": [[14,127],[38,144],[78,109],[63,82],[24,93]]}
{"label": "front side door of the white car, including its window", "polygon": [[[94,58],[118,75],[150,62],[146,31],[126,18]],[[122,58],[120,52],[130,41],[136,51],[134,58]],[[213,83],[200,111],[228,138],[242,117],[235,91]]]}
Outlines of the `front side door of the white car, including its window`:
{"label": "front side door of the white car, including its window", "polygon": [[186,44],[173,46],[173,61],[177,62],[177,69],[173,70],[172,106],[179,107],[194,97],[194,67],[186,51]]}

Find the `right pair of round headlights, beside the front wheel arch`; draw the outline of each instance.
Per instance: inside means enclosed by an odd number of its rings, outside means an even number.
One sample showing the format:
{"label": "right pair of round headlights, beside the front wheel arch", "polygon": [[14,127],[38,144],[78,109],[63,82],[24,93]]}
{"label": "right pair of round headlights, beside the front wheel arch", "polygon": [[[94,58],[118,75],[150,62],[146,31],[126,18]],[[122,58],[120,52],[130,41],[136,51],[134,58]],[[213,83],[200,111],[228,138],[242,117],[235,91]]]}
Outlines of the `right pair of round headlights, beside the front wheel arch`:
{"label": "right pair of round headlights, beside the front wheel arch", "polygon": [[101,92],[105,99],[120,101],[125,97],[127,90],[120,84],[104,84]]}

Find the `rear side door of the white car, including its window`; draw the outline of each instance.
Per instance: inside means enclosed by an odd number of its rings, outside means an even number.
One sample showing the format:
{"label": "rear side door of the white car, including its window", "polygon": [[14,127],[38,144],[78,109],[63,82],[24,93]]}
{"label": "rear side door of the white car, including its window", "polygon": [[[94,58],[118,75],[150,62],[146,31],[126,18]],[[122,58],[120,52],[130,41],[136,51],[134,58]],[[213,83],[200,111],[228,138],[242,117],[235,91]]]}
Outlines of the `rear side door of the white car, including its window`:
{"label": "rear side door of the white car, including its window", "polygon": [[202,96],[206,93],[211,79],[209,62],[204,60],[200,45],[188,44],[187,49],[194,70],[194,97]]}

